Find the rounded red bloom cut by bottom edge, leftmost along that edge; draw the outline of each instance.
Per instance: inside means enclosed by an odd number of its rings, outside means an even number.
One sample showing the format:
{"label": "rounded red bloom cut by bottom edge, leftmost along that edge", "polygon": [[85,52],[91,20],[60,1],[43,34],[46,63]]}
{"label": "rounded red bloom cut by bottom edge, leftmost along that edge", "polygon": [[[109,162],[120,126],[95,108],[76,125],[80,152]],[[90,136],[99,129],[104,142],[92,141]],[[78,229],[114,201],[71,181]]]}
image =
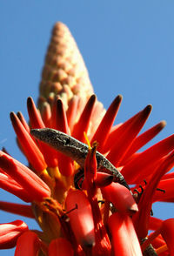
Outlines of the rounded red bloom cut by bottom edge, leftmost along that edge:
{"label": "rounded red bloom cut by bottom edge, leftmost along that edge", "polygon": [[23,232],[17,239],[15,256],[37,256],[41,248],[41,241],[35,232]]}

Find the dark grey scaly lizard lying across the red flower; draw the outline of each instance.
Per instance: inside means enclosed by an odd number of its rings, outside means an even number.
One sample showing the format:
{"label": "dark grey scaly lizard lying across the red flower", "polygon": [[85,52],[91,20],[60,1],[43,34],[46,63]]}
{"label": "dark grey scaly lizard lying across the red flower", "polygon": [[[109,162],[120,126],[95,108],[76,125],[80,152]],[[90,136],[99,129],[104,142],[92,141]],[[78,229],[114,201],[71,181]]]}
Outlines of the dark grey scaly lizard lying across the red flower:
{"label": "dark grey scaly lizard lying across the red flower", "polygon": [[[75,160],[78,165],[84,167],[84,161],[89,150],[88,145],[85,145],[81,141],[67,135],[62,131],[57,131],[50,128],[32,129],[30,133],[35,138],[50,145],[57,151],[62,152],[65,156]],[[113,175],[113,180],[115,182],[124,185],[130,190],[129,185],[127,185],[126,181],[124,180],[124,176],[117,171],[116,167],[112,165],[107,158],[105,158],[99,152],[96,152],[96,158],[97,170],[99,172],[106,172]]]}

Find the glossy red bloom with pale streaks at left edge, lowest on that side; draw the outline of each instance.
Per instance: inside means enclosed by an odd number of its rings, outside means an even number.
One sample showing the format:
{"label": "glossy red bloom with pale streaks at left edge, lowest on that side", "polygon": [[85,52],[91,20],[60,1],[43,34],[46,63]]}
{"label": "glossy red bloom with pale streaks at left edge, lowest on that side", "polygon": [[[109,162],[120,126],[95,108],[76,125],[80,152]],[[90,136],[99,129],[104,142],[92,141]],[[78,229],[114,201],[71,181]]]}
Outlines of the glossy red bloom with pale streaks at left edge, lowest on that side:
{"label": "glossy red bloom with pale streaks at left edge, lowest on that side", "polygon": [[0,224],[0,249],[16,246],[18,237],[26,231],[28,226],[22,220]]}

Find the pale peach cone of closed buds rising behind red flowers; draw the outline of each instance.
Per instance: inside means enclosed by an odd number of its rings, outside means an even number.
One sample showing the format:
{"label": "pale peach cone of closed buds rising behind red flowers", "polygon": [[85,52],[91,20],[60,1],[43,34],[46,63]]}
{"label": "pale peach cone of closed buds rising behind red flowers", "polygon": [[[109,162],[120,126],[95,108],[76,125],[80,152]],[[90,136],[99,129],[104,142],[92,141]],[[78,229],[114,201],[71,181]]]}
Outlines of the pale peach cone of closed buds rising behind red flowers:
{"label": "pale peach cone of closed buds rising behind red flowers", "polygon": [[43,67],[40,106],[43,98],[49,100],[58,94],[67,108],[75,95],[86,101],[92,92],[88,71],[70,30],[65,24],[55,24]]}

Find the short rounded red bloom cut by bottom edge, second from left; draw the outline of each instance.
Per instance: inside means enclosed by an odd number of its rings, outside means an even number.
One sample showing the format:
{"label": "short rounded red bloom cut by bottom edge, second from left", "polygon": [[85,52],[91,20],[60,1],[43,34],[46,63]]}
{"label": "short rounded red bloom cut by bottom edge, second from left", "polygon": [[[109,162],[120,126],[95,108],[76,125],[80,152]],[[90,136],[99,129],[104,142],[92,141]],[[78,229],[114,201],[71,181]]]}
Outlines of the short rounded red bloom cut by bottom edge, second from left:
{"label": "short rounded red bloom cut by bottom edge, second from left", "polygon": [[49,256],[73,256],[74,251],[67,239],[54,239],[49,245]]}

